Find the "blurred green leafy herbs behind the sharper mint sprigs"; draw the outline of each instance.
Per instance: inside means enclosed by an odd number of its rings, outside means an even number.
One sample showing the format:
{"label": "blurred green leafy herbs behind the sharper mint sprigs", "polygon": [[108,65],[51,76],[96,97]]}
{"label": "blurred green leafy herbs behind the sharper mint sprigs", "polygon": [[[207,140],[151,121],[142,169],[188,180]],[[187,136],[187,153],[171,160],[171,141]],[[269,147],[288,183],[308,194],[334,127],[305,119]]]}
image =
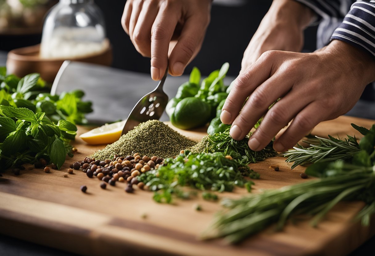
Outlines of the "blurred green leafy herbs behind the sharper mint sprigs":
{"label": "blurred green leafy herbs behind the sharper mint sprigs", "polygon": [[92,103],[82,101],[84,92],[75,90],[51,95],[45,81],[37,73],[19,78],[13,74],[6,75],[6,68],[0,67],[0,105],[25,107],[34,113],[44,112],[55,124],[60,119],[73,124],[87,122],[85,114],[92,112]]}

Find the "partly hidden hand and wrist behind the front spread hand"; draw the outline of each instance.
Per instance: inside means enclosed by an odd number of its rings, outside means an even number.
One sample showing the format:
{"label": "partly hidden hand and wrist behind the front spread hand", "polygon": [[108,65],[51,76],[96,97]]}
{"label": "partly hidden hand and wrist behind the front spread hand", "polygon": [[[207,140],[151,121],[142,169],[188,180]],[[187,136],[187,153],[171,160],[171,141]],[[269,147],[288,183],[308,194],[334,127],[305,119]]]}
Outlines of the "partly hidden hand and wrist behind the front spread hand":
{"label": "partly hidden hand and wrist behind the front spread hand", "polygon": [[245,50],[240,73],[258,60],[263,52],[281,50],[300,52],[303,30],[309,25],[312,10],[292,0],[274,0]]}

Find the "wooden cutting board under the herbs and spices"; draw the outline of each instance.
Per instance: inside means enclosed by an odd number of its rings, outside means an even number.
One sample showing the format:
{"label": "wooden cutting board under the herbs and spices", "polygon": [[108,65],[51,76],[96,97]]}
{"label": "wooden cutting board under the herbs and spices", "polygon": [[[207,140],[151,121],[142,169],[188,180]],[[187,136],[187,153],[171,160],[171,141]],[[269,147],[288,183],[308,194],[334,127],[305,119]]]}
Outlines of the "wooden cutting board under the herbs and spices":
{"label": "wooden cutting board under the herbs and spices", "polygon": [[[322,137],[360,137],[351,122],[369,128],[375,121],[341,116],[319,124],[312,133]],[[203,130],[178,131],[195,140],[205,135]],[[0,177],[2,234],[83,255],[205,256],[346,255],[375,234],[375,225],[362,227],[350,221],[364,204],[345,202],[330,211],[318,228],[309,226],[308,221],[290,224],[278,233],[270,228],[239,246],[227,245],[223,240],[199,241],[198,235],[220,209],[219,203],[204,201],[199,195],[186,201],[176,199],[171,205],[158,204],[152,200],[152,192],[136,189],[133,194],[125,193],[124,183],[117,182],[103,190],[98,179],[89,179],[81,171],[63,177],[72,162],[104,147],[88,146],[79,138],[75,146],[78,152],[62,170],[24,170],[19,176],[7,171]],[[301,179],[299,174],[304,168],[291,170],[291,164],[284,160],[275,157],[251,165],[261,174],[261,179],[255,181],[254,193],[312,179]],[[280,171],[270,165],[279,165]],[[87,193],[80,191],[81,185],[87,186]],[[246,189],[236,188],[219,197],[239,198],[245,194]],[[193,209],[196,203],[202,211]],[[147,217],[142,218],[143,215]]]}

